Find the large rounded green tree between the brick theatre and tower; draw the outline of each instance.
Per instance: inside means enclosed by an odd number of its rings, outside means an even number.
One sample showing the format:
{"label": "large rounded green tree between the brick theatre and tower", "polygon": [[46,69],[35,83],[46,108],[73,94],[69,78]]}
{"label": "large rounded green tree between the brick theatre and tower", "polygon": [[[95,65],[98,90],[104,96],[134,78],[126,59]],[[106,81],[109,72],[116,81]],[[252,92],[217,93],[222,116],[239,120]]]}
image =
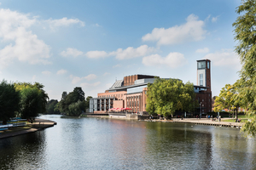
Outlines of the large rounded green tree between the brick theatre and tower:
{"label": "large rounded green tree between the brick theatre and tower", "polygon": [[175,111],[192,112],[195,105],[194,86],[190,82],[156,78],[154,83],[148,83],[146,111],[149,114],[173,116]]}

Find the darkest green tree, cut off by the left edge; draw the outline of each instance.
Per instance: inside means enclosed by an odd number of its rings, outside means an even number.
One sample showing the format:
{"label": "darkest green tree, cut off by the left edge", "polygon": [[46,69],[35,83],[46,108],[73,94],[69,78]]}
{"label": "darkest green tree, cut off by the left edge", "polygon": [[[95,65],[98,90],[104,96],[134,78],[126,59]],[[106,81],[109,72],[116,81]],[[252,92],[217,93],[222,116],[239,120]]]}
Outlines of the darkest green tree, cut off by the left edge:
{"label": "darkest green tree, cut off by the left edge", "polygon": [[6,124],[19,110],[20,93],[15,90],[14,84],[3,80],[0,83],[0,121]]}

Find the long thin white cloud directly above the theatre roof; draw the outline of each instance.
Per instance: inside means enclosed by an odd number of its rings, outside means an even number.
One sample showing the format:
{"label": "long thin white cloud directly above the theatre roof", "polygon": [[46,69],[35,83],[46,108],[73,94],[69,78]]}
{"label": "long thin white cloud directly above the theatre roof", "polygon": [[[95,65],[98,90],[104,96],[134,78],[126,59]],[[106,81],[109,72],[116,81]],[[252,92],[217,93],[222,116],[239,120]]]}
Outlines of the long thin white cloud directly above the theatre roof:
{"label": "long thin white cloud directly above the theatre roof", "polygon": [[136,57],[142,57],[147,54],[151,54],[155,51],[155,48],[150,48],[148,45],[142,45],[138,48],[129,47],[126,49],[118,48],[116,51],[107,53],[105,51],[89,51],[85,55],[89,58],[99,59],[108,56],[115,56],[116,59],[132,59]]}

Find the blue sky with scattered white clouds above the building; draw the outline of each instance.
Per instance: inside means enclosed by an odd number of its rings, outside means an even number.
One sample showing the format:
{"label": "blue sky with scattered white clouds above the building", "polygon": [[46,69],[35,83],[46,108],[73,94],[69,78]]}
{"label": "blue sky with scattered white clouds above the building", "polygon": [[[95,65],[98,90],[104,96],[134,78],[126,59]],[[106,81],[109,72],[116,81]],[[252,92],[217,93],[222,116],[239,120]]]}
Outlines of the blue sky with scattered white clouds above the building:
{"label": "blue sky with scattered white clouds above the building", "polygon": [[136,74],[196,83],[198,59],[212,60],[212,96],[239,78],[240,0],[0,3],[0,80],[41,82],[49,99],[96,97]]}

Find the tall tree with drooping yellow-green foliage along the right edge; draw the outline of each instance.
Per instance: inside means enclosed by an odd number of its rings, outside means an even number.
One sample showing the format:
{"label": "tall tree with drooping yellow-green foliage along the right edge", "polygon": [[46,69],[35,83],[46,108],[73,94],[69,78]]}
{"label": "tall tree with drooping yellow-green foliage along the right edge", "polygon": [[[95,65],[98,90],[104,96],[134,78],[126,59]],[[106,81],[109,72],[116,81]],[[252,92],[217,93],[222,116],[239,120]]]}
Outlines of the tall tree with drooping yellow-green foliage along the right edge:
{"label": "tall tree with drooping yellow-green foliage along the right edge", "polygon": [[240,14],[235,27],[236,53],[240,56],[241,71],[239,89],[240,98],[247,98],[243,101],[247,105],[247,113],[253,116],[250,122],[242,127],[242,131],[246,134],[256,136],[256,2],[255,0],[244,0],[241,5],[236,8],[236,13]]}

